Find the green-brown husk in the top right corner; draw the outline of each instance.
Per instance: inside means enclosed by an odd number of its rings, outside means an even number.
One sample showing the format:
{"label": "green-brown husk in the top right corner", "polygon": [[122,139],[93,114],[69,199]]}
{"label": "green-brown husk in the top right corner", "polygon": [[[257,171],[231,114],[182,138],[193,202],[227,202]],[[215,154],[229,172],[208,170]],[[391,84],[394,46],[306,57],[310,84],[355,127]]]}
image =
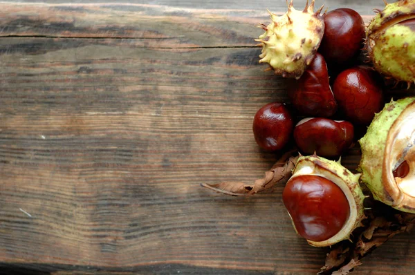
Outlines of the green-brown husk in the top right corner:
{"label": "green-brown husk in the top right corner", "polygon": [[388,4],[367,28],[367,53],[379,73],[415,83],[415,29],[400,23],[415,18],[415,0]]}

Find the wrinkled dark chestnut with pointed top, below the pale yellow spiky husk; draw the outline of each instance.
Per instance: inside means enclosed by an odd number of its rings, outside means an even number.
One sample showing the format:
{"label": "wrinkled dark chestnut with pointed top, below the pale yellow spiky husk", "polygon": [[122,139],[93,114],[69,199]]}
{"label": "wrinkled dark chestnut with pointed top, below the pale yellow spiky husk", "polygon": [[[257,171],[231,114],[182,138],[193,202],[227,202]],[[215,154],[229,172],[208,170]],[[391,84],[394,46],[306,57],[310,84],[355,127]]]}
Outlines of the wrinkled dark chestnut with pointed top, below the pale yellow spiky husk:
{"label": "wrinkled dark chestnut with pointed top, below the pale yellow spiky husk", "polygon": [[337,110],[324,57],[317,53],[290,93],[293,106],[306,116],[330,117]]}

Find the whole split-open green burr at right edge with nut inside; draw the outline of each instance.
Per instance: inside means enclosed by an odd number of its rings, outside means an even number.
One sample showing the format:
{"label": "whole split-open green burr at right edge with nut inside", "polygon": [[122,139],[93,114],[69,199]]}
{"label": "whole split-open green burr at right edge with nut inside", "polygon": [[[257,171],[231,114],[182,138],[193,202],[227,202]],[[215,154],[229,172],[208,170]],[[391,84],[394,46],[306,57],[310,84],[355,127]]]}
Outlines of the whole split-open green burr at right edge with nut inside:
{"label": "whole split-open green burr at right edge with nut inside", "polygon": [[415,213],[415,97],[386,104],[359,142],[358,170],[374,198]]}

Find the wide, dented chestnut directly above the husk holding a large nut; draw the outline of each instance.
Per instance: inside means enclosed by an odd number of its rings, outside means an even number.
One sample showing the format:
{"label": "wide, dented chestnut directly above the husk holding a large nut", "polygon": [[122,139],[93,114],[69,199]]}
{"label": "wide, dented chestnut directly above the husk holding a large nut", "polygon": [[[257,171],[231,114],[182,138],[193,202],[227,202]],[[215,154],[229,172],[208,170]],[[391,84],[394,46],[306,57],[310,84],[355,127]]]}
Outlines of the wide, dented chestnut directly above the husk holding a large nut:
{"label": "wide, dented chestnut directly above the husk holding a large nut", "polygon": [[340,157],[349,149],[353,136],[354,127],[350,122],[324,117],[304,118],[294,129],[294,140],[299,151],[330,159]]}

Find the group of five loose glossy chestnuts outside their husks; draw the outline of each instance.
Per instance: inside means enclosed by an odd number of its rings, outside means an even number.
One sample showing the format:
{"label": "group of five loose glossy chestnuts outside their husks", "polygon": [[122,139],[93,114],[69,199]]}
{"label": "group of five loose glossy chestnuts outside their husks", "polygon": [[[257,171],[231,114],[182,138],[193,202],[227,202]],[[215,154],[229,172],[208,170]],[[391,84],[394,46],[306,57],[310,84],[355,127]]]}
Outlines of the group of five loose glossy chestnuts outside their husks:
{"label": "group of five loose glossy chestnuts outside their husks", "polygon": [[[376,71],[358,64],[365,39],[358,12],[339,8],[313,15],[324,22],[324,32],[310,64],[290,85],[295,110],[282,102],[263,106],[255,115],[253,132],[266,151],[284,149],[293,137],[302,154],[336,159],[353,143],[354,126],[368,126],[382,110],[384,86]],[[340,72],[329,75],[329,68]],[[297,117],[304,118],[295,125]]]}

